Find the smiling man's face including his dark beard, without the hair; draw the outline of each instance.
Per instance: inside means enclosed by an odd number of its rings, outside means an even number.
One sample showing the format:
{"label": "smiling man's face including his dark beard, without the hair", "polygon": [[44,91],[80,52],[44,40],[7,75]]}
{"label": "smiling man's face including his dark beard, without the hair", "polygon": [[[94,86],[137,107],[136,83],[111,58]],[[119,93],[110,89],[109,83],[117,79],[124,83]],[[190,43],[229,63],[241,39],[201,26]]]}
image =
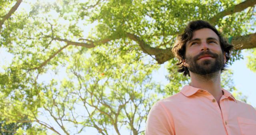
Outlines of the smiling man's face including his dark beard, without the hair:
{"label": "smiling man's face including his dark beard, without the hair", "polygon": [[217,34],[208,28],[194,31],[186,43],[185,57],[184,66],[199,75],[220,71],[226,62]]}

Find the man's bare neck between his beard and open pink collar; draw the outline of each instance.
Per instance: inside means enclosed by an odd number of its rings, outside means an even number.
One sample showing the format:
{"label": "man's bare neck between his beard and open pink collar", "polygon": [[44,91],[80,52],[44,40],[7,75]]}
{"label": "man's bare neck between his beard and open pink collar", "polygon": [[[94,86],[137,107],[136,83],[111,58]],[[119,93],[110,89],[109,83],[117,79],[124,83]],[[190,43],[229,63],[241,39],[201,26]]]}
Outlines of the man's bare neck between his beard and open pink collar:
{"label": "man's bare neck between his beard and open pink collar", "polygon": [[190,85],[192,87],[207,90],[219,103],[220,97],[223,95],[220,86],[220,71],[207,75],[198,75],[190,72],[190,77]]}

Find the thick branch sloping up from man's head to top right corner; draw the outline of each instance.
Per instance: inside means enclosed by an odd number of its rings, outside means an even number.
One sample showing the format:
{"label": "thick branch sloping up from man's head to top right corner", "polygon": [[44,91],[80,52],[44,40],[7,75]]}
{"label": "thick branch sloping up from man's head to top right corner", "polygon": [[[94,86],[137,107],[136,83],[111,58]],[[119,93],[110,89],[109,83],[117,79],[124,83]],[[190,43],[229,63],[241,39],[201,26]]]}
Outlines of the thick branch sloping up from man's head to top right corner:
{"label": "thick branch sloping up from man's head to top right corner", "polygon": [[256,0],[246,0],[240,4],[232,6],[222,12],[219,12],[214,17],[210,18],[209,22],[211,22],[211,23],[217,22],[218,19],[223,18],[224,16],[234,14],[236,12],[241,12],[242,10],[244,10],[250,6],[254,6],[255,4],[256,4]]}

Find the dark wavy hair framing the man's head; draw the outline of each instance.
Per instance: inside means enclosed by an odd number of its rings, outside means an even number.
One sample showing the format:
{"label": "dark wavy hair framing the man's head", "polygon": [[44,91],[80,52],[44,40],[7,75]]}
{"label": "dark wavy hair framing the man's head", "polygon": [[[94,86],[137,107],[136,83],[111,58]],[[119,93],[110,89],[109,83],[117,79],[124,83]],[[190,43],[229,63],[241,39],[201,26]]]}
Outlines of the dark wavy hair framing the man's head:
{"label": "dark wavy hair framing the man's head", "polygon": [[206,22],[203,20],[196,20],[196,21],[190,22],[186,26],[184,32],[177,37],[174,47],[172,48],[172,52],[173,52],[174,56],[176,58],[178,58],[178,60],[179,60],[178,63],[176,64],[179,67],[178,72],[180,72],[180,73],[184,72],[183,73],[184,76],[186,76],[186,75],[190,76],[188,68],[185,67],[182,63],[182,60],[185,59],[186,43],[192,39],[194,31],[202,29],[202,28],[211,29],[219,37],[220,47],[222,49],[222,52],[225,53],[225,55],[226,55],[226,63],[224,64],[224,66],[222,67],[222,69],[220,71],[226,70],[225,67],[227,65],[228,60],[230,59],[231,52],[232,52],[234,46],[232,44],[229,44],[221,36],[221,34],[218,32],[218,30],[214,26],[212,26],[209,22]]}

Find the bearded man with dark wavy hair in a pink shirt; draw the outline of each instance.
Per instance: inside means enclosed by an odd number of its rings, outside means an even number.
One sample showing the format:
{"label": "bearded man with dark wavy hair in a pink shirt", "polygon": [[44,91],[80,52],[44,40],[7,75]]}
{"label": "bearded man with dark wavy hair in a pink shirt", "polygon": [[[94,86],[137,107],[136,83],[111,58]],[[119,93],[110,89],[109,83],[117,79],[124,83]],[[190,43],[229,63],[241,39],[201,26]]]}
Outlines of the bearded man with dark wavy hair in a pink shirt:
{"label": "bearded man with dark wavy hair in a pink shirt", "polygon": [[256,135],[256,110],[220,86],[232,48],[208,22],[188,24],[172,52],[191,83],[150,109],[146,135]]}

